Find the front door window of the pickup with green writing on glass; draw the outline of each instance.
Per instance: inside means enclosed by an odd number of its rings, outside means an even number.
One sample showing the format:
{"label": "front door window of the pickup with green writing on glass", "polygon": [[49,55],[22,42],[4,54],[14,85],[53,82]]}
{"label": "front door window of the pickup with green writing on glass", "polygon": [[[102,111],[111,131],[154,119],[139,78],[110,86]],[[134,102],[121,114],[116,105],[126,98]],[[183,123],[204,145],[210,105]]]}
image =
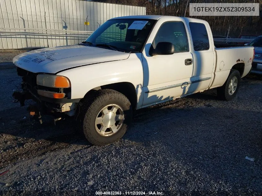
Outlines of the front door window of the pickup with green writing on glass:
{"label": "front door window of the pickup with green writing on glass", "polygon": [[174,45],[175,52],[189,51],[184,23],[171,21],[162,24],[152,43],[154,49],[159,42],[171,42]]}

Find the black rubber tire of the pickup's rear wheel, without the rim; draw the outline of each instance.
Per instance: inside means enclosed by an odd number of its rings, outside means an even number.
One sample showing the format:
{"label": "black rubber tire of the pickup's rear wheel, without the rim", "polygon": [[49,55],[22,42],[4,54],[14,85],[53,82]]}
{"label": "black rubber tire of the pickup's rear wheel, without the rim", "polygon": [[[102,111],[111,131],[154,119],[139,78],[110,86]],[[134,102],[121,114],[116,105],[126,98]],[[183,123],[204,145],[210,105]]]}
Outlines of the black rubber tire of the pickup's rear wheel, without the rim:
{"label": "black rubber tire of the pickup's rear wheel, without the rim", "polygon": [[[237,78],[237,86],[236,89],[234,91],[233,94],[229,94],[229,85],[231,83],[231,80],[236,77]],[[238,93],[238,89],[240,86],[240,73],[238,70],[232,69],[229,73],[229,76],[227,78],[227,80],[225,81],[223,86],[220,86],[217,88],[217,95],[220,99],[222,100],[226,100],[226,101],[230,101],[232,100],[234,97],[236,97],[237,93]]]}

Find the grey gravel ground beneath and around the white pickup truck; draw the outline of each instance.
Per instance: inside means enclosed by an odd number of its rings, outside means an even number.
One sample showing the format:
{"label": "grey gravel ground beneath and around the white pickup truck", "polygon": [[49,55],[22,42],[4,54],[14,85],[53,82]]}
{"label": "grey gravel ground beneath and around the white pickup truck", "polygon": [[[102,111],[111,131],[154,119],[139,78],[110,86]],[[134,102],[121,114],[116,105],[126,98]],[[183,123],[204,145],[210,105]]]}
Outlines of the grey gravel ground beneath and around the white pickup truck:
{"label": "grey gravel ground beneath and around the white pickup truck", "polygon": [[1,70],[0,82],[0,173],[9,170],[1,195],[262,195],[259,76],[242,79],[230,102],[209,90],[139,110],[126,135],[103,147],[91,146],[72,119],[30,120],[12,102],[16,69]]}

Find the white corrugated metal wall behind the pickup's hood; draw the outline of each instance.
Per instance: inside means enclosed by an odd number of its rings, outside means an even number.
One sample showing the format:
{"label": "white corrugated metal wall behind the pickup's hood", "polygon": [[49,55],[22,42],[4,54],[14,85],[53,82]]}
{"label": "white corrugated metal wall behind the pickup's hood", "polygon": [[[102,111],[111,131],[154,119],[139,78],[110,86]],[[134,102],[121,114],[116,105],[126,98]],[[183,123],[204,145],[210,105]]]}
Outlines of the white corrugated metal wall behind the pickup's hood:
{"label": "white corrugated metal wall behind the pickup's hood", "polygon": [[[36,32],[35,29],[95,31],[113,17],[145,15],[146,8],[82,0],[0,0],[0,12],[0,32]],[[85,21],[89,21],[90,25],[85,25]],[[64,46],[83,39],[0,33],[0,49]]]}

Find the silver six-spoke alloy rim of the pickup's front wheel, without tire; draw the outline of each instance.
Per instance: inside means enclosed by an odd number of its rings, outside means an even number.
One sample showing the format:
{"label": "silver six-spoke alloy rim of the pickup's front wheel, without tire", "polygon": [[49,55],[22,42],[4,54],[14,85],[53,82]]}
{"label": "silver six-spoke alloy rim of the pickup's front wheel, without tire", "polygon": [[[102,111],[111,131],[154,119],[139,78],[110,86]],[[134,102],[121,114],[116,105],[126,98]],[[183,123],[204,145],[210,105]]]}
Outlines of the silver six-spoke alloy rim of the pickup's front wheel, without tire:
{"label": "silver six-spoke alloy rim of the pickup's front wheel, without tire", "polygon": [[116,104],[102,108],[95,118],[95,129],[102,136],[111,136],[118,132],[124,122],[124,111]]}

